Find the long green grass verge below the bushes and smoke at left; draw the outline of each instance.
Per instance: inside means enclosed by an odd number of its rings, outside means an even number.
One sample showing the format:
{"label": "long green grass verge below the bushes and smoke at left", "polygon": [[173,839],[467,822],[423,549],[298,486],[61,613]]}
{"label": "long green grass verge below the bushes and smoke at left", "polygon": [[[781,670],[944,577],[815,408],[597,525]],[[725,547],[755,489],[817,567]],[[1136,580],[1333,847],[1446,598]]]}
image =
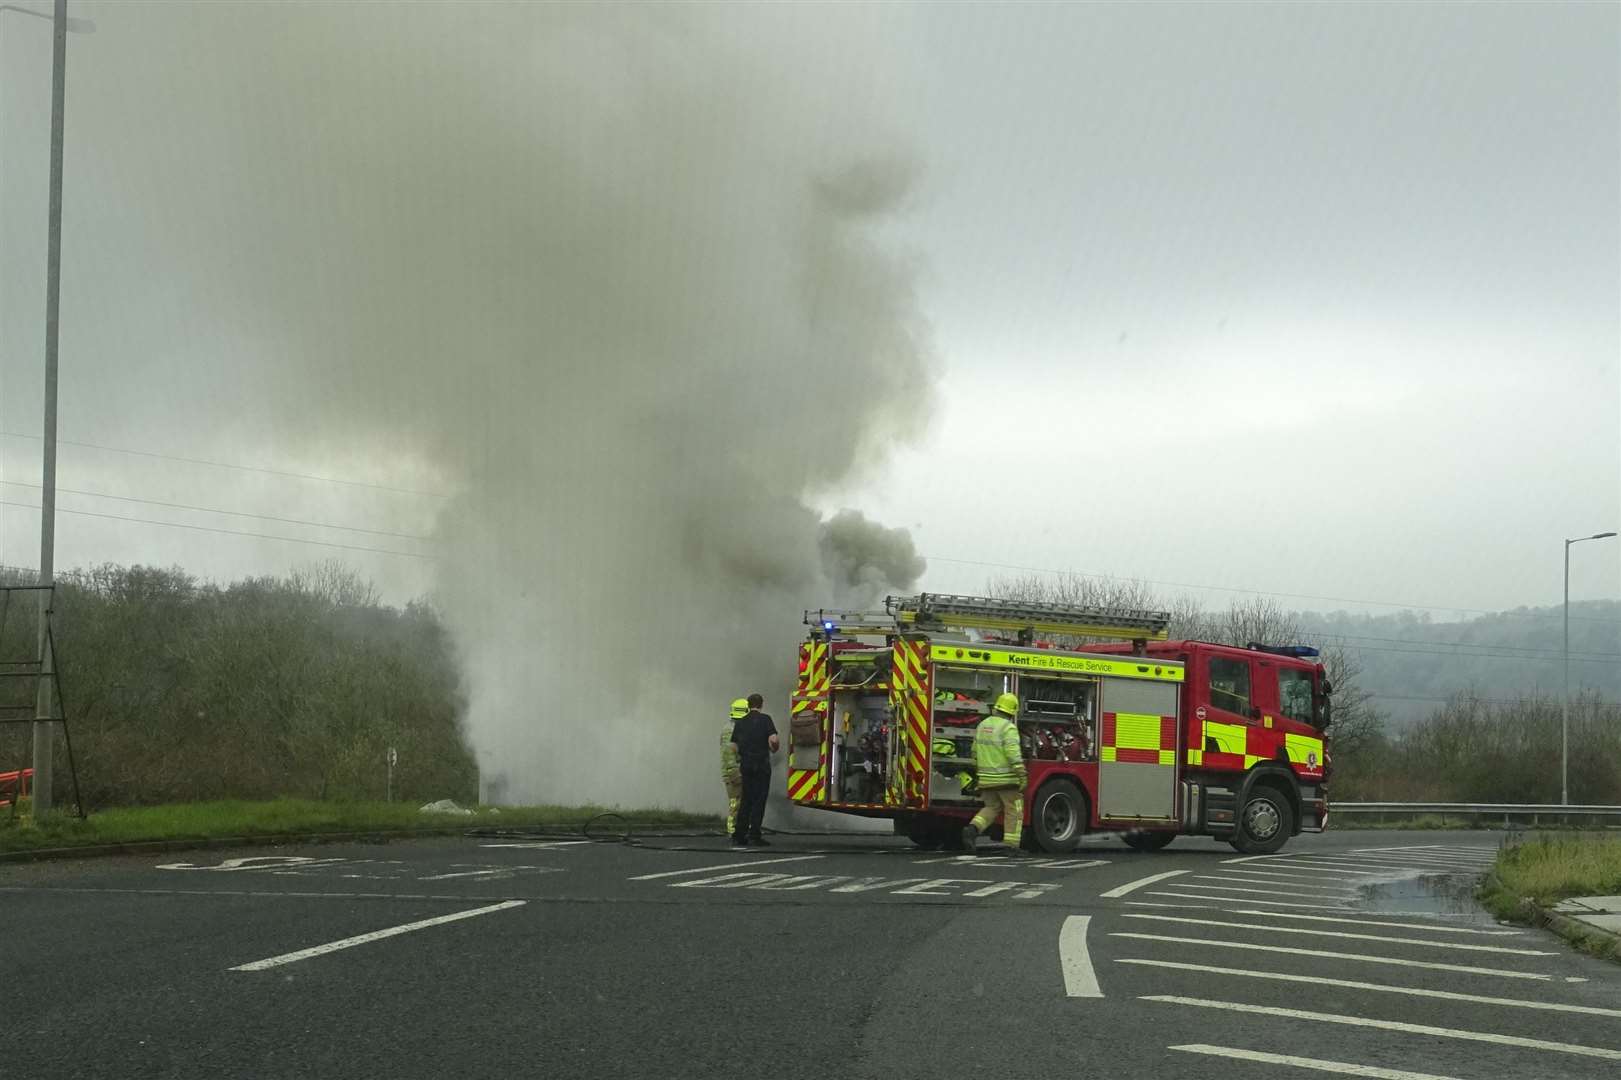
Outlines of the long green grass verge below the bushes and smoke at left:
{"label": "long green grass verge below the bushes and smoke at left", "polygon": [[[41,851],[122,843],[229,840],[237,837],[300,837],[349,832],[410,832],[459,829],[575,827],[608,812],[603,806],[503,806],[478,808],[472,814],[425,814],[400,803],[316,803],[313,799],[272,799],[267,803],[219,801],[170,806],[128,806],[91,814],[52,814],[29,821],[19,808],[0,809],[0,853]],[[634,824],[720,827],[720,819],[668,809],[613,811]],[[605,827],[605,830],[611,830]]]}

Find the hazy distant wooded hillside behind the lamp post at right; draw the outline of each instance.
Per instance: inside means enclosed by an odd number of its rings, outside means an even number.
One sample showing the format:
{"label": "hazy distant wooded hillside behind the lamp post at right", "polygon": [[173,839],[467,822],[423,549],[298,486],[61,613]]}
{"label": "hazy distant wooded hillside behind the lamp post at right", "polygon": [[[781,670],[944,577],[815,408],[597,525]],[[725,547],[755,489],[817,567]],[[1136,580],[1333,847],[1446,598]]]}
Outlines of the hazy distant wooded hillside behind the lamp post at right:
{"label": "hazy distant wooded hillside behind the lamp post at right", "polygon": [[[1313,637],[1344,645],[1362,660],[1360,686],[1401,730],[1435,712],[1457,691],[1486,699],[1558,696],[1563,684],[1561,608],[1519,608],[1461,623],[1426,615],[1302,611]],[[1571,605],[1571,692],[1593,689],[1621,701],[1621,603]]]}

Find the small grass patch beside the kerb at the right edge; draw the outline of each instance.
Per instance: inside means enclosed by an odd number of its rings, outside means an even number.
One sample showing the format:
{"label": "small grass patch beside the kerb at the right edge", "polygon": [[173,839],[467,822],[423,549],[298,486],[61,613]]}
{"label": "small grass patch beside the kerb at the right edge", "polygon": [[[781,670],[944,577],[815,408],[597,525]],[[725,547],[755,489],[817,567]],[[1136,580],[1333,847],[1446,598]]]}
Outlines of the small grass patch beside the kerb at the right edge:
{"label": "small grass patch beside the kerb at the right edge", "polygon": [[1542,835],[1498,851],[1480,902],[1501,919],[1546,924],[1582,952],[1621,960],[1621,937],[1550,911],[1571,897],[1621,894],[1621,837]]}

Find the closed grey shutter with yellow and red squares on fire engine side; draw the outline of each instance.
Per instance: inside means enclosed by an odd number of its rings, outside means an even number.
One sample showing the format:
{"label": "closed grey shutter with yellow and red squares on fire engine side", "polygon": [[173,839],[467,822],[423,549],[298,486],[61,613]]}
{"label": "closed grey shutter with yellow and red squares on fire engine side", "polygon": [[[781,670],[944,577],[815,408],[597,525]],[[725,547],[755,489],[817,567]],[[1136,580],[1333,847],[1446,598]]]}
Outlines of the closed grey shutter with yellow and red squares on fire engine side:
{"label": "closed grey shutter with yellow and red squares on fire engine side", "polygon": [[1099,701],[1097,816],[1177,816],[1177,684],[1104,678]]}

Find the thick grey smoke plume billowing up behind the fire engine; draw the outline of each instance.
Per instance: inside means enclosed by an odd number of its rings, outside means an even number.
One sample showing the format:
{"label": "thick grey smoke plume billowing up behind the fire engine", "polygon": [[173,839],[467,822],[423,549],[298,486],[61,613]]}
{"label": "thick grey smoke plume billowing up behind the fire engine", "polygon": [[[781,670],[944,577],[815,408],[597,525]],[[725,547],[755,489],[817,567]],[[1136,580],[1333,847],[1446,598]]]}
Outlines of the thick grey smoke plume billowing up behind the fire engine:
{"label": "thick grey smoke plume billowing up behind the fire engine", "polygon": [[456,491],[436,595],[507,798],[713,808],[729,699],[786,718],[799,611],[922,571],[809,508],[930,402],[879,235],[917,175],[890,16],[269,6],[107,11],[151,34],[141,117],[178,114],[104,162],[109,227],[188,282],[242,438]]}

